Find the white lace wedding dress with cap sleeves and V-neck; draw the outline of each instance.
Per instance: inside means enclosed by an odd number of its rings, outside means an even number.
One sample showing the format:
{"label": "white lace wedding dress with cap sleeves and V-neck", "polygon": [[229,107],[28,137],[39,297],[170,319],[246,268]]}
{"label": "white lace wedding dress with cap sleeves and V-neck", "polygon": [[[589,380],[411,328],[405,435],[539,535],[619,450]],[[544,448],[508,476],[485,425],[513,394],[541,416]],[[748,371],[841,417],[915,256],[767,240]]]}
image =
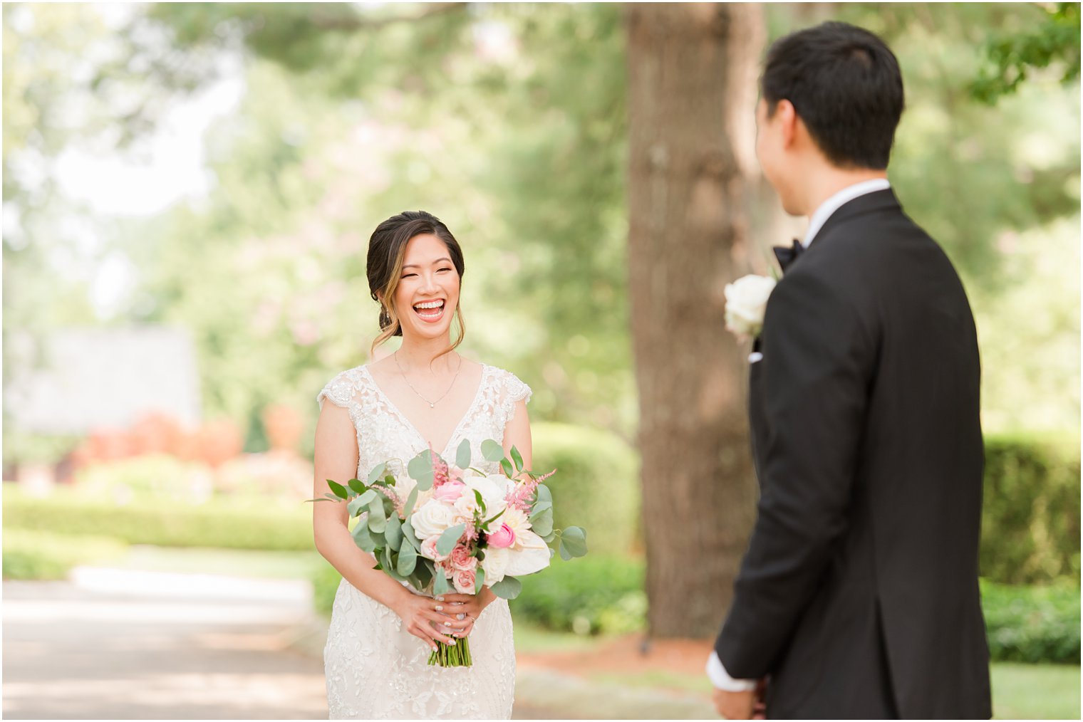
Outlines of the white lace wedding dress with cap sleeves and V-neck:
{"label": "white lace wedding dress with cap sleeves and V-neck", "polygon": [[[473,464],[497,473],[484,461],[481,443],[500,441],[514,404],[529,401],[530,388],[512,373],[482,368],[473,403],[440,449],[453,460],[470,439]],[[336,376],[317,395],[344,407],[357,431],[357,477],[364,480],[388,459],[408,461],[428,447],[409,420],[358,366]],[[396,474],[405,473],[401,467]],[[510,719],[516,684],[516,651],[508,603],[497,599],[470,632],[472,667],[429,667],[429,647],[403,629],[394,612],[357,591],[344,579],[335,595],[324,671],[331,719]]]}

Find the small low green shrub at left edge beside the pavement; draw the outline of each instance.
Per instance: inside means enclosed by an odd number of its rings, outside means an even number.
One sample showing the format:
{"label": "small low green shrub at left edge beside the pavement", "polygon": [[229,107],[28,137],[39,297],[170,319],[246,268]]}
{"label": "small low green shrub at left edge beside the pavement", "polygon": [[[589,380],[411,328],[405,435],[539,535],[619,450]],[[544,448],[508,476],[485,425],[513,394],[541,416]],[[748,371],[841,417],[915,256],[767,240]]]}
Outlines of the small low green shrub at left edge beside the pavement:
{"label": "small low green shrub at left edge beside the pavement", "polygon": [[5,528],[4,579],[63,579],[71,567],[123,555],[126,546],[108,537],[68,536]]}

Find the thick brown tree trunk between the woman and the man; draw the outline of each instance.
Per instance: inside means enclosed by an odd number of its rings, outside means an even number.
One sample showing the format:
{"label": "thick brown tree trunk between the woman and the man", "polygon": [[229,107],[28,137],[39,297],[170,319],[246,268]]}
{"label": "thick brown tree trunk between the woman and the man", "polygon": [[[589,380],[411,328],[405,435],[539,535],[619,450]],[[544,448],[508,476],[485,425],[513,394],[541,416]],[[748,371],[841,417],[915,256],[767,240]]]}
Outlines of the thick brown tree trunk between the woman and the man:
{"label": "thick brown tree trunk between the woman and the man", "polygon": [[652,636],[713,636],[754,515],[748,349],[725,330],[749,244],[761,10],[629,4],[628,266]]}

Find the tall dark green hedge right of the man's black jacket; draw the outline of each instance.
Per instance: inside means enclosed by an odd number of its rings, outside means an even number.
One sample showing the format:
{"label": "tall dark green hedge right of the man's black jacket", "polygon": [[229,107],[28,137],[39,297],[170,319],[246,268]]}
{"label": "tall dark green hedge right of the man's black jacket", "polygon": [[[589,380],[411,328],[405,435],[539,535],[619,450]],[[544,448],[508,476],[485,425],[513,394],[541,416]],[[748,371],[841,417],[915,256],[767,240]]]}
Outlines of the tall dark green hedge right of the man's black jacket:
{"label": "tall dark green hedge right of the man's black jacket", "polygon": [[988,435],[981,575],[1080,581],[1080,448],[1070,436]]}

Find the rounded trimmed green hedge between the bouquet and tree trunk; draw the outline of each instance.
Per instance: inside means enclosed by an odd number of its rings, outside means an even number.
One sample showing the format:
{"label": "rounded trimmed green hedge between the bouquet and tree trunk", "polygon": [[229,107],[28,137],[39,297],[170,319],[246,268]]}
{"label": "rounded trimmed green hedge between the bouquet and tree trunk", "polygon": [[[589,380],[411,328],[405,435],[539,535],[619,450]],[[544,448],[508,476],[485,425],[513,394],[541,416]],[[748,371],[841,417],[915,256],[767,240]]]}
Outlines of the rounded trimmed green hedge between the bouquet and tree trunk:
{"label": "rounded trimmed green hedge between the bouquet and tree trunk", "polygon": [[582,526],[591,554],[623,554],[641,546],[639,460],[618,436],[598,429],[536,423],[531,429],[534,471],[557,473],[557,528]]}

